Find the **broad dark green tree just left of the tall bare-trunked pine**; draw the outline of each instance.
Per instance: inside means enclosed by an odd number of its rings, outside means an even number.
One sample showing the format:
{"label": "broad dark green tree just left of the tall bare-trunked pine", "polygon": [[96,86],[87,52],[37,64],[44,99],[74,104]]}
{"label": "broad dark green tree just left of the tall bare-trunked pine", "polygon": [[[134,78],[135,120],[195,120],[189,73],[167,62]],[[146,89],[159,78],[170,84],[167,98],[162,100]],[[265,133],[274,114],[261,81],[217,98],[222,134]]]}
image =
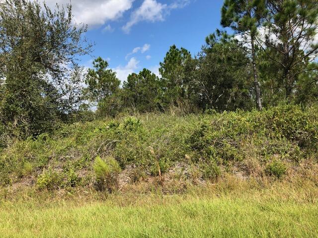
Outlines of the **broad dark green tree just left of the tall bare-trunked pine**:
{"label": "broad dark green tree just left of the tall bare-trunked pine", "polygon": [[220,31],[210,35],[207,43],[192,70],[191,101],[219,112],[252,108],[251,69],[240,43]]}

